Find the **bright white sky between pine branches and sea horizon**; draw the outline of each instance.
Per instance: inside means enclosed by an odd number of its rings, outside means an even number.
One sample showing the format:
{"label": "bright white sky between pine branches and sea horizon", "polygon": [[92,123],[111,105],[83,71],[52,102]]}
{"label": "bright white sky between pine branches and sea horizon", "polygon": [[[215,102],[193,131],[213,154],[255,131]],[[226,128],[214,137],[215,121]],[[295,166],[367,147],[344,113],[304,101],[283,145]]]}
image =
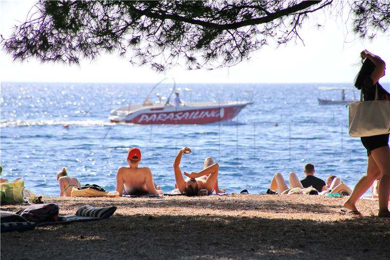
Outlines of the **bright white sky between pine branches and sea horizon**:
{"label": "bright white sky between pine branches and sea horizon", "polygon": [[[31,0],[0,0],[0,33],[7,38],[12,28],[26,20],[34,5]],[[41,63],[38,60],[13,61],[0,49],[0,80],[21,82],[118,82],[150,83],[165,77],[180,83],[347,83],[353,82],[359,70],[362,50],[367,49],[390,64],[390,32],[369,40],[356,40],[348,31],[350,23],[334,21],[318,14],[306,22],[300,36],[277,47],[270,44],[253,53],[251,60],[231,68],[188,71],[177,65],[165,74],[148,66],[137,67],[116,54],[102,54],[98,60],[82,60],[80,65]],[[324,19],[326,21],[324,22]],[[381,82],[390,82],[390,70]]]}

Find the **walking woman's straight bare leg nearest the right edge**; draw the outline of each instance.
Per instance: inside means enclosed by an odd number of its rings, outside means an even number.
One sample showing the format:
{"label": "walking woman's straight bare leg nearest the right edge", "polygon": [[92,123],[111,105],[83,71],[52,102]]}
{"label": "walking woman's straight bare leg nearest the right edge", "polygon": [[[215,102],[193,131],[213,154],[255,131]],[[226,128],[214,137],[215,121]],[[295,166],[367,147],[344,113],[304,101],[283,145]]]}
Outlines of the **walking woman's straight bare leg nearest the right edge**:
{"label": "walking woman's straight bare leg nearest the right edge", "polygon": [[378,198],[379,198],[379,217],[389,216],[389,190],[390,190],[390,148],[383,146],[371,151],[371,155],[375,160],[382,178],[379,182]]}

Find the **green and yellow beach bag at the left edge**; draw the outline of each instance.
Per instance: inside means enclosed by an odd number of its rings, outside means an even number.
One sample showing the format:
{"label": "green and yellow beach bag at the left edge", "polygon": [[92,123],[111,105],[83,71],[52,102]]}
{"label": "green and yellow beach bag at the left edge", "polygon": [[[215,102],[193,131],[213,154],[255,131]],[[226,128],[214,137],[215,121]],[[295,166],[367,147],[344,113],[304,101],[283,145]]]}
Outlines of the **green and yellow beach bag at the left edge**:
{"label": "green and yellow beach bag at the left edge", "polygon": [[13,182],[0,183],[1,204],[17,204],[24,202],[24,179],[21,179],[22,178],[18,178]]}

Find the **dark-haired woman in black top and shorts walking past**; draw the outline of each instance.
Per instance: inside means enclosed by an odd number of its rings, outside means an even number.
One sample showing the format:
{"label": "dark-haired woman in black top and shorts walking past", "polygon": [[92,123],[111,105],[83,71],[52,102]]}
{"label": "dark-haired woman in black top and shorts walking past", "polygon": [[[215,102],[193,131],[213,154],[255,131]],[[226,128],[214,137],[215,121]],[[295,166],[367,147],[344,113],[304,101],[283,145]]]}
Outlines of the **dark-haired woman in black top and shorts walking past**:
{"label": "dark-haired woman in black top and shorts walking past", "polygon": [[[363,101],[374,100],[375,91],[378,91],[378,100],[390,100],[390,94],[378,83],[378,80],[385,76],[385,61],[367,50],[362,51],[360,56],[364,62],[356,76],[355,87],[363,91]],[[356,183],[350,198],[344,203],[343,211],[360,214],[355,205],[356,201],[370,188],[374,180],[380,179],[378,216],[390,217],[389,134],[362,137],[361,141],[367,149],[367,174]]]}

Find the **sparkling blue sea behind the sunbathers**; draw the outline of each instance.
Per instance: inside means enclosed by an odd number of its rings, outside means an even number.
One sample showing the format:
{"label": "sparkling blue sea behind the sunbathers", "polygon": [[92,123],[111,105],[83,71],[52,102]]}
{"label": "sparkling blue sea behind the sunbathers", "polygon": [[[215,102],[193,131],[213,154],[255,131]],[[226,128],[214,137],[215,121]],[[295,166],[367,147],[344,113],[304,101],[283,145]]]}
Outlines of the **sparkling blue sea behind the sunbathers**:
{"label": "sparkling blue sea behind the sunbathers", "polygon": [[[164,191],[173,189],[172,164],[183,146],[193,154],[183,156],[182,170],[201,170],[212,156],[220,165],[219,186],[228,192],[263,193],[276,171],[303,177],[308,162],[316,176],[334,174],[351,187],[365,173],[366,150],[348,135],[348,109],[317,102],[341,96],[317,89],[324,84],[177,84],[192,90],[181,94],[188,101],[252,98],[254,104],[233,121],[209,125],[109,122],[110,110],[143,102],[154,84],[1,82],[3,177],[22,176],[28,189],[57,196],[56,173],[65,166],[82,184],[115,190],[117,168],[126,165],[132,146],[141,149],[140,165],[150,166]],[[156,92],[167,96],[169,87]]]}

